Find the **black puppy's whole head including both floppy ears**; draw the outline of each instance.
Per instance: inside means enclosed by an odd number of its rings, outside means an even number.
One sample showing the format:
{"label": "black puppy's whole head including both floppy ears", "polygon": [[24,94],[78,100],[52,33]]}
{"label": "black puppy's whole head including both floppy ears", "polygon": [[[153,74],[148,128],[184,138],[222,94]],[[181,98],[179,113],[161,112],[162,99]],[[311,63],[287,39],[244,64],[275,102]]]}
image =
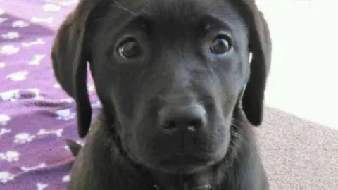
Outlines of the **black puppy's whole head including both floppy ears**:
{"label": "black puppy's whole head including both floppy ears", "polygon": [[[249,54],[252,59],[249,61]],[[54,42],[54,72],[89,129],[87,62],[123,151],[155,170],[222,160],[234,109],[260,125],[270,34],[249,0],[82,0]]]}

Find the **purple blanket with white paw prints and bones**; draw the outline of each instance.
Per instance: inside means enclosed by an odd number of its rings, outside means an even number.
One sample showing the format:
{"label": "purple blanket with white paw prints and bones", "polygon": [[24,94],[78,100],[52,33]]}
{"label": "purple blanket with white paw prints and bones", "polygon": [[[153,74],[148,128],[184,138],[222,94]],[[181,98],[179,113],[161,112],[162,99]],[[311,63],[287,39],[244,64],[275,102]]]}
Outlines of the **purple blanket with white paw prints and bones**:
{"label": "purple blanket with white paw prints and bones", "polygon": [[76,3],[0,0],[1,190],[66,189],[73,156],[65,139],[79,140],[75,104],[57,84],[49,55]]}

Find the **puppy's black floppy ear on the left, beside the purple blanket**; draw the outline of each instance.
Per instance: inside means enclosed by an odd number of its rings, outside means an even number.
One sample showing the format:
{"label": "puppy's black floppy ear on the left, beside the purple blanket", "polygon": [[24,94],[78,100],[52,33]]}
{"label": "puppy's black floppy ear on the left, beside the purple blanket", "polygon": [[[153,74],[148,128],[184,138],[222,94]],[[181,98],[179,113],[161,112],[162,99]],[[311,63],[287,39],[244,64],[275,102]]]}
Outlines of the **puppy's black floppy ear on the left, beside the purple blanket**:
{"label": "puppy's black floppy ear on the left, beside the purple blanket", "polygon": [[59,28],[51,50],[56,80],[76,102],[77,132],[84,137],[92,120],[92,107],[87,90],[87,61],[89,52],[84,49],[89,14],[97,2],[82,0]]}

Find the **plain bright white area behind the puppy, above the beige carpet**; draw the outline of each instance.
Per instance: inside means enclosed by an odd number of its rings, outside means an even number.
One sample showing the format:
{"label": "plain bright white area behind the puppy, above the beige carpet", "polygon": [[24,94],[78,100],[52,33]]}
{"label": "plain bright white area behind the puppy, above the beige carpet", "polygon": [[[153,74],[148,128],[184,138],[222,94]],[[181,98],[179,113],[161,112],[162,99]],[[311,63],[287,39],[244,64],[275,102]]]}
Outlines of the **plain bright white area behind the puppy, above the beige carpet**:
{"label": "plain bright white area behind the puppy, above the beige carpet", "polygon": [[258,0],[273,37],[268,106],[338,129],[338,0]]}

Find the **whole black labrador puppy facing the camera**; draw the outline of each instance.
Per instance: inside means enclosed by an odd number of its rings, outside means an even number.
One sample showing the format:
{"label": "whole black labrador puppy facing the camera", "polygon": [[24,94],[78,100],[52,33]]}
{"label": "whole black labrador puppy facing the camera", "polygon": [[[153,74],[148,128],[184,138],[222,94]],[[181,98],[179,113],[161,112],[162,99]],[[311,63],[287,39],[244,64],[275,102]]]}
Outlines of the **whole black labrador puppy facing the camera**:
{"label": "whole black labrador puppy facing the camera", "polygon": [[268,189],[253,126],[271,43],[254,1],[81,0],[51,56],[87,141],[69,189]]}

